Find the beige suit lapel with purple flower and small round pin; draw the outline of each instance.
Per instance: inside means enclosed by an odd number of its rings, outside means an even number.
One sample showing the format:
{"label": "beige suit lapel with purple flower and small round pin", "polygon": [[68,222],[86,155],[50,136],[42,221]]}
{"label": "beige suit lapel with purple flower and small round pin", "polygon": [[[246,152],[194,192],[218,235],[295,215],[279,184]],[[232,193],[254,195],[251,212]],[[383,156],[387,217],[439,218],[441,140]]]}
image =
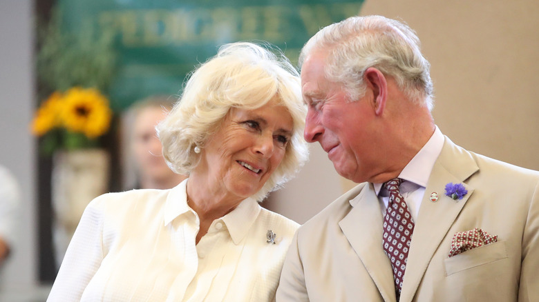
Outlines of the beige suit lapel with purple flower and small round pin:
{"label": "beige suit lapel with purple flower and small round pin", "polygon": [[[466,201],[473,194],[473,188],[466,185],[464,181],[477,170],[479,168],[469,152],[458,147],[446,137],[444,147],[433,166],[425,196],[419,207],[400,301],[412,301],[428,263]],[[457,201],[447,197],[445,195],[447,183],[463,183],[468,194]],[[432,192],[438,194],[436,202],[430,199]]]}

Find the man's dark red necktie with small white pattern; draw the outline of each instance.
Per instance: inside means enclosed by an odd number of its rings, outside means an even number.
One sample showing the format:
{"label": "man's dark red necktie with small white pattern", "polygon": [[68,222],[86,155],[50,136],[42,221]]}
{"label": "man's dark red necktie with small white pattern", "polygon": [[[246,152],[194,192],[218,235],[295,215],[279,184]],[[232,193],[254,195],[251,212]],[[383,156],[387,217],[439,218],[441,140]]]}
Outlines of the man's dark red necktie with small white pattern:
{"label": "man's dark red necktie with small white pattern", "polygon": [[408,205],[399,193],[401,183],[402,179],[391,179],[384,183],[384,187],[389,191],[388,209],[384,217],[384,252],[391,260],[393,267],[397,301],[399,301],[402,290],[408,250],[410,250],[410,241],[414,231],[414,221],[408,210]]}

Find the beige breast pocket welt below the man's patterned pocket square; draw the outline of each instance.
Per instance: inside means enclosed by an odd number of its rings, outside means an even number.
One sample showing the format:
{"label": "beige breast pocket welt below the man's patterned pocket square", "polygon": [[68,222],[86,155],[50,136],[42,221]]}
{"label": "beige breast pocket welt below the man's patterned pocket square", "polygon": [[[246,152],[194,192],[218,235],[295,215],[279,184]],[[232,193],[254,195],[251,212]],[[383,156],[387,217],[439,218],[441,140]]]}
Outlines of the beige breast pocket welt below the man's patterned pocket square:
{"label": "beige breast pocket welt below the man's patterned pocket square", "polygon": [[505,241],[483,245],[444,260],[446,276],[507,258]]}

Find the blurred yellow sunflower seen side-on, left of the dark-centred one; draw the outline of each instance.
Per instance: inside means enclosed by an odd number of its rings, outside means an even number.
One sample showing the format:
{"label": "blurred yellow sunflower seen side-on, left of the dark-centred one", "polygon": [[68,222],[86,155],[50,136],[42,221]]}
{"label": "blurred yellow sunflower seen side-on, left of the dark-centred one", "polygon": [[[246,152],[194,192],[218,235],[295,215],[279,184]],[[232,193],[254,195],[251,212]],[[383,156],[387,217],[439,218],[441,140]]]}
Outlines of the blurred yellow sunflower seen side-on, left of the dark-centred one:
{"label": "blurred yellow sunflower seen side-on, left of the dark-centred one", "polygon": [[50,130],[57,128],[60,123],[59,111],[62,106],[62,94],[54,92],[37,110],[32,120],[32,133],[38,137],[43,136]]}

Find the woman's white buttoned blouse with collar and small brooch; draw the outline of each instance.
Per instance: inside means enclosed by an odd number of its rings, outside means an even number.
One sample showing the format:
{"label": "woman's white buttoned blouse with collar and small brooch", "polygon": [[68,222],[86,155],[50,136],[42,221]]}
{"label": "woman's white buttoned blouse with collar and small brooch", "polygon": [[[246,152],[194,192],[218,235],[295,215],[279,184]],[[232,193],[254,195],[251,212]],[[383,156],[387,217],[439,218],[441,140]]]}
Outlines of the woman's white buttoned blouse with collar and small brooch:
{"label": "woman's white buttoned blouse with collar and small brooch", "polygon": [[196,245],[200,223],[187,205],[187,181],[94,199],[47,301],[274,300],[299,225],[245,199]]}

